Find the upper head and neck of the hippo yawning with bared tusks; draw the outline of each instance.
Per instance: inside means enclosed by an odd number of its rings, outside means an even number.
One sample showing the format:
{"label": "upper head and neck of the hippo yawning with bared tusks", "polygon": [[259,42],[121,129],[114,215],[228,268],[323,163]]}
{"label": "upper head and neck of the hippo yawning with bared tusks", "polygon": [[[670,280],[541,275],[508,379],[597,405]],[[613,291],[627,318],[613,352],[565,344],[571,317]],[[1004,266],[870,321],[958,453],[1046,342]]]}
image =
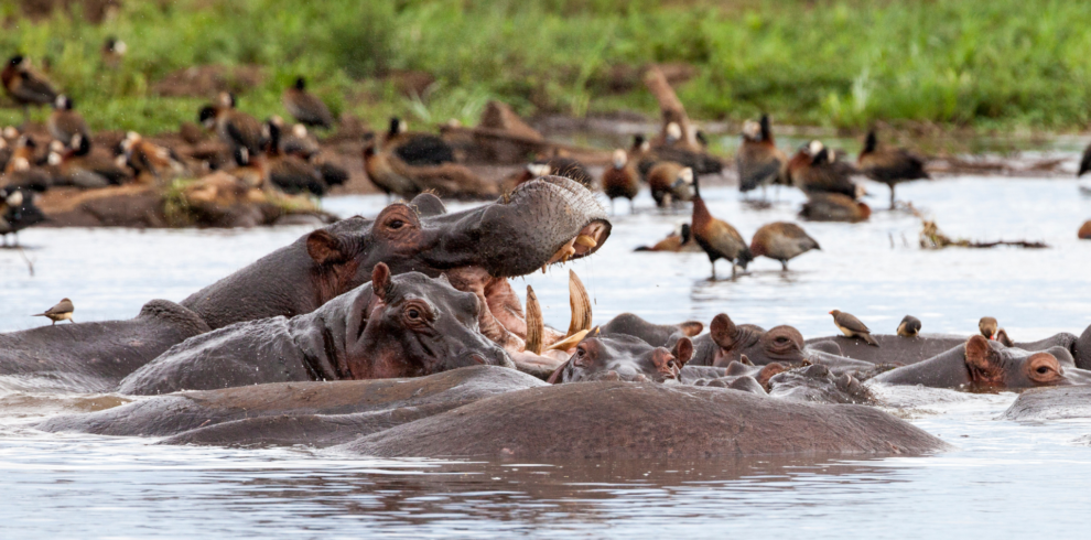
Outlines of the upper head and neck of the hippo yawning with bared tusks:
{"label": "upper head and neck of the hippo yawning with bared tusks", "polygon": [[[494,203],[454,214],[435,196],[421,195],[375,219],[356,216],[314,230],[183,305],[213,328],[310,313],[366,283],[379,262],[392,274],[446,273],[460,290],[482,298],[492,281],[595,252],[609,233],[605,209],[569,179],[527,182]],[[471,278],[455,280],[458,272]]]}

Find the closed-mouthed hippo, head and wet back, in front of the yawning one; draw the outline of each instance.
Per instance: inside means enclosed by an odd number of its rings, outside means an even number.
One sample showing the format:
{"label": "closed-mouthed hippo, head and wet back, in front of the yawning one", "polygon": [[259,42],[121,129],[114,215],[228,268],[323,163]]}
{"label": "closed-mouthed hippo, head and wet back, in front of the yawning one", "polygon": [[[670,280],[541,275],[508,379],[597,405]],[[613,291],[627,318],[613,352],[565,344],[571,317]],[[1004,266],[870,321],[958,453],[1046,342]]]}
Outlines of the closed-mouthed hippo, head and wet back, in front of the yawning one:
{"label": "closed-mouthed hippo, head and wet back, in front of the yawning one", "polygon": [[480,304],[444,277],[370,282],[305,315],[246,321],[182,342],[126,377],[130,395],[212,390],[263,382],[420,377],[474,365],[515,367],[477,332]]}

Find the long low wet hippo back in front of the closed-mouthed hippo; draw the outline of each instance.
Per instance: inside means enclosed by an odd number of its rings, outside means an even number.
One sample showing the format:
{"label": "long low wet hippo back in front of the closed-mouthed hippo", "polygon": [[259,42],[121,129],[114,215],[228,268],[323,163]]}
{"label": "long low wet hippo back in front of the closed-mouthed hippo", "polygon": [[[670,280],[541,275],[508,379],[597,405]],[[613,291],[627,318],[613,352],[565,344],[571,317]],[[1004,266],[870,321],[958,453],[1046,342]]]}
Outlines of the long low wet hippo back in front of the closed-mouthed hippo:
{"label": "long low wet hippo back in front of the closed-mouthed hippo", "polygon": [[37,425],[50,432],[170,436],[168,444],[328,446],[472,403],[546,386],[493,366],[411,379],[274,382],[155,396]]}

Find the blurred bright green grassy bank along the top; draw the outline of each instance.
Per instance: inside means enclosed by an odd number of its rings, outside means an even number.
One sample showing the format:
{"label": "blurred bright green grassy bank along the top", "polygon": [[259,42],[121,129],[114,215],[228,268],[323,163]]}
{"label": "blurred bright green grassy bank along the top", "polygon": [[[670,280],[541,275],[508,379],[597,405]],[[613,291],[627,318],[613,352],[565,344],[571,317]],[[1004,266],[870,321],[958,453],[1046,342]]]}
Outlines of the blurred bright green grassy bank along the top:
{"label": "blurred bright green grassy bank along the top", "polygon": [[[0,52],[22,51],[75,97],[94,129],[159,131],[192,120],[203,99],[153,84],[195,64],[258,64],[241,108],[284,115],[296,74],[335,114],[381,123],[476,120],[497,98],[525,115],[622,109],[653,115],[635,79],[649,62],[692,65],[678,91],[690,115],[862,128],[875,120],[975,129],[1080,130],[1091,117],[1091,3],[702,0],[127,1],[91,25],[30,21],[4,3]],[[107,35],[130,47],[100,65]],[[390,74],[435,82],[407,96]],[[636,84],[635,84],[636,83]],[[20,118],[0,110],[0,122]],[[44,118],[44,111],[36,118]]]}

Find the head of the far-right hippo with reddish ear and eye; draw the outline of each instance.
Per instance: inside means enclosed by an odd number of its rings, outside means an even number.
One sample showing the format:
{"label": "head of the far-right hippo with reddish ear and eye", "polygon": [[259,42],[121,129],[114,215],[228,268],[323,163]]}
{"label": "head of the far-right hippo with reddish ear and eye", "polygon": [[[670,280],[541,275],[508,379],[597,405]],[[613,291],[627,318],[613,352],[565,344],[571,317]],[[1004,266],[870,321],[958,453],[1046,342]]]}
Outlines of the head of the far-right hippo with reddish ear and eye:
{"label": "head of the far-right hippo with reddish ear and eye", "polygon": [[1027,352],[1005,347],[981,335],[965,344],[965,364],[974,389],[1023,389],[1041,386],[1087,384],[1088,374],[1077,369],[1063,347]]}

